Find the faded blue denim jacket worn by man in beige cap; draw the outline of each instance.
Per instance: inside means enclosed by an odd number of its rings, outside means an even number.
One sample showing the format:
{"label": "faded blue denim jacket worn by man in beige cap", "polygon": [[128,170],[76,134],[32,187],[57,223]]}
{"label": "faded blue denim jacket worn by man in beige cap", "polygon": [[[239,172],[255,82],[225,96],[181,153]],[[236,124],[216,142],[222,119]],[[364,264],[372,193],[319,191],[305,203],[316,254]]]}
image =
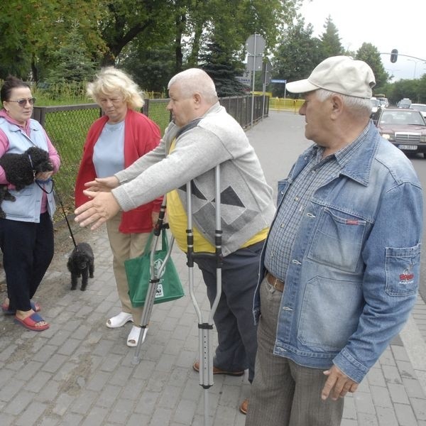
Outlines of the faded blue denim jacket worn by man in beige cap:
{"label": "faded blue denim jacket worn by man in beige cap", "polygon": [[[278,182],[278,208],[311,153],[300,155]],[[359,383],[415,303],[421,237],[422,188],[413,166],[370,124],[363,146],[305,209],[285,275],[274,354],[312,368],[335,364]],[[264,249],[256,322],[263,261]]]}

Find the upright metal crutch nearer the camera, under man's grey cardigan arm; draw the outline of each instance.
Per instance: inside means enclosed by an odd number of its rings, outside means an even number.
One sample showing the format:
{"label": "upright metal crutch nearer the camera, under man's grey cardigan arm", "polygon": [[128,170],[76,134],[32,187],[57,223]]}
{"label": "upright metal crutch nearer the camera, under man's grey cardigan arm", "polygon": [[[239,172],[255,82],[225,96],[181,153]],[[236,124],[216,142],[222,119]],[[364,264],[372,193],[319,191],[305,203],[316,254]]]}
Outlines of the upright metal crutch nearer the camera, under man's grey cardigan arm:
{"label": "upright metal crutch nearer the camera, under man's grey cardigan arm", "polygon": [[[214,168],[214,190],[216,202],[214,231],[214,253],[194,252],[194,234],[192,231],[192,181],[187,183],[187,266],[189,275],[189,288],[192,303],[198,317],[199,338],[199,362],[200,362],[200,386],[204,388],[204,426],[209,425],[209,388],[213,381],[213,354],[212,354],[212,329],[213,316],[222,293],[222,226],[220,212],[220,166]],[[207,322],[203,322],[200,306],[197,303],[194,292],[194,259],[197,257],[213,257],[216,259],[216,297],[209,312]]]}

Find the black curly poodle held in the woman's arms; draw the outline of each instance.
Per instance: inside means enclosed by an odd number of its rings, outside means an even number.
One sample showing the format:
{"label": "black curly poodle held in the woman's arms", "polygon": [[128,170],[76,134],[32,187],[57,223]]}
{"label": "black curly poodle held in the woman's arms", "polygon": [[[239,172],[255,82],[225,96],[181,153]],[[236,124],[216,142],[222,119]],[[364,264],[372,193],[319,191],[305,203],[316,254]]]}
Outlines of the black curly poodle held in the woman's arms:
{"label": "black curly poodle held in the woman's arms", "polygon": [[[37,146],[28,148],[22,154],[4,154],[0,158],[0,165],[4,168],[6,179],[15,185],[18,191],[22,190],[26,185],[31,185],[37,173],[51,172],[53,170],[48,152]],[[7,190],[7,185],[0,185],[0,205],[3,200],[15,201],[15,197]],[[1,207],[0,217],[3,219],[6,217]]]}

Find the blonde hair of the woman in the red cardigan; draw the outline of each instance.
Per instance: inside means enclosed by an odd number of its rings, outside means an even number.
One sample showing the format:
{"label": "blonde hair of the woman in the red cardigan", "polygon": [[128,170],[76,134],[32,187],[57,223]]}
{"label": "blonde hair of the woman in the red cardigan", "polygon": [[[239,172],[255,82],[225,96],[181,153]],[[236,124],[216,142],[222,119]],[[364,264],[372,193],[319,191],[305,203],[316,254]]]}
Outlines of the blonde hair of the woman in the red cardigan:
{"label": "blonde hair of the woman in the red cardigan", "polygon": [[[133,82],[126,72],[117,70],[114,67],[102,68],[96,75],[96,80],[87,84],[87,94],[99,101],[102,95],[111,95],[119,92],[131,109],[143,107],[143,92],[139,89],[138,84]],[[99,103],[99,102],[98,102]]]}

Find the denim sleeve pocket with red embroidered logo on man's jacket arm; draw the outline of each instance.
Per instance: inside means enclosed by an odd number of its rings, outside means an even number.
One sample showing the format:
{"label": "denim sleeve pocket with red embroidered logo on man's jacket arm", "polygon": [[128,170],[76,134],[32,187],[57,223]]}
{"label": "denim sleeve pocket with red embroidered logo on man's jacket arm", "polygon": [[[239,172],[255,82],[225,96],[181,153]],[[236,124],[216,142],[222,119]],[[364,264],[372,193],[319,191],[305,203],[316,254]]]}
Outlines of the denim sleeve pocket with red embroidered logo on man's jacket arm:
{"label": "denim sleeve pocket with red embroidered logo on man's jacket arm", "polygon": [[420,274],[420,244],[401,249],[386,247],[385,268],[388,295],[415,295]]}

